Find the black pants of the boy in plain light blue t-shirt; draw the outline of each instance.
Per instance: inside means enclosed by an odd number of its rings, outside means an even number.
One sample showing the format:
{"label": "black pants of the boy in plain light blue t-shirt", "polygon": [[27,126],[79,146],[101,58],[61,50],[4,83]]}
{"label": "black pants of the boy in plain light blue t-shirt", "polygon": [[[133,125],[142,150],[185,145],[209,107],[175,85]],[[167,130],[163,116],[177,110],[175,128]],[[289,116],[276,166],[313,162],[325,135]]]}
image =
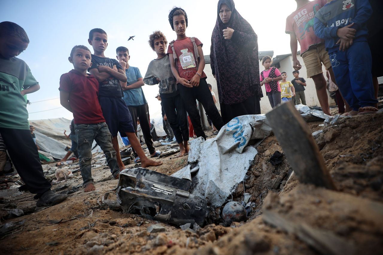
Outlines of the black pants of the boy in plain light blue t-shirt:
{"label": "black pants of the boy in plain light blue t-shirt", "polygon": [[[130,114],[132,115],[134,132],[136,132],[137,134],[137,118],[138,118],[140,121],[141,130],[142,130],[142,134],[144,135],[146,146],[149,149],[149,153],[153,154],[155,152],[155,148],[153,145],[153,138],[150,133],[149,107],[147,106],[147,104],[137,105],[137,106],[129,105],[128,109],[130,111]],[[134,156],[137,157],[136,152],[134,150],[133,152],[134,152]]]}

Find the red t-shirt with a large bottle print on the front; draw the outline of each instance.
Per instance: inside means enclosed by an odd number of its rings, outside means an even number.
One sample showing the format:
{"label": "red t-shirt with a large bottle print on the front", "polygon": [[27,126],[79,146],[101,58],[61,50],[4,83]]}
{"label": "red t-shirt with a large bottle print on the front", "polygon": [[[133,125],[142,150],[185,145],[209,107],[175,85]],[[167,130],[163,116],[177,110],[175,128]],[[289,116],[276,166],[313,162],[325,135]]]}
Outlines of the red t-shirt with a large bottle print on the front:
{"label": "red t-shirt with a large bottle print on the front", "polygon": [[[195,44],[197,46],[202,47],[202,43],[198,38],[195,38]],[[191,80],[193,76],[197,73],[196,69],[196,57],[194,55],[194,47],[193,43],[191,42],[190,37],[187,37],[185,39],[176,40],[174,42],[174,50],[177,54],[178,60],[177,60],[177,70],[178,75],[180,75],[181,78],[185,78],[187,80]],[[172,47],[168,47],[168,54],[173,54]],[[200,56],[203,57],[203,56]],[[205,78],[206,74],[202,72],[201,78]]]}

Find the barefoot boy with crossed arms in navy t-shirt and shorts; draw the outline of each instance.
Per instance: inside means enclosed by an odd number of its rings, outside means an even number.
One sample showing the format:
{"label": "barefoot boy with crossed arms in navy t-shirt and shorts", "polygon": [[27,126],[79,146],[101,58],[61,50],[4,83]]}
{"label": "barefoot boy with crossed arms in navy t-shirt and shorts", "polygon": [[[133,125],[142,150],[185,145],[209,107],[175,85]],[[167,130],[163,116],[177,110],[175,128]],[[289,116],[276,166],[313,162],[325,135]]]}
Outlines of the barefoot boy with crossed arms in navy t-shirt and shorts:
{"label": "barefoot boy with crossed arms in navy t-shirt and shorts", "polygon": [[[162,162],[150,160],[146,157],[137,139],[128,107],[122,100],[123,90],[120,81],[126,82],[124,72],[126,63],[123,61],[119,63],[116,59],[105,57],[104,51],[108,47],[108,36],[104,30],[100,28],[90,30],[88,43],[92,45],[94,51],[94,54],[92,54],[92,66],[88,71],[97,78],[100,85],[98,100],[100,101],[106,124],[108,124],[109,131],[113,137],[113,148],[116,150],[117,163],[120,170],[125,169],[125,166],[119,151],[118,131],[121,136],[128,137],[132,148],[136,150],[141,159],[142,167],[162,165]],[[124,66],[121,66],[121,64]]]}

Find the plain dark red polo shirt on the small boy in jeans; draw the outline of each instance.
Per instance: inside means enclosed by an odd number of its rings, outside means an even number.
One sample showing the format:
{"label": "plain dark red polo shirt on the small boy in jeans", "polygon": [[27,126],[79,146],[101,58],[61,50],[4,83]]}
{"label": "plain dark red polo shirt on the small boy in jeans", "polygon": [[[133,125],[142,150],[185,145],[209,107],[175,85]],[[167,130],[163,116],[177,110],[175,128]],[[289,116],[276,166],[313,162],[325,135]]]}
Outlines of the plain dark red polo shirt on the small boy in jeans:
{"label": "plain dark red polo shirt on the small boy in jeans", "polygon": [[98,102],[98,80],[93,75],[84,76],[70,70],[60,77],[59,90],[69,92],[75,124],[96,124],[105,122]]}

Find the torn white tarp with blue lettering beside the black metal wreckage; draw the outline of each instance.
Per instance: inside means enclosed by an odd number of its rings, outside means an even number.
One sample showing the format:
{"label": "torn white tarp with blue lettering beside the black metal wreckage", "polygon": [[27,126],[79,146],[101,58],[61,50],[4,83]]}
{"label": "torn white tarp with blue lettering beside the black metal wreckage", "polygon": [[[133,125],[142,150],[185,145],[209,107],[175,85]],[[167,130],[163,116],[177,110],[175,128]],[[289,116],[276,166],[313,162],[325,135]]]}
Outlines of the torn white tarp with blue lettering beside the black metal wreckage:
{"label": "torn white tarp with blue lettering beside the black metal wreckage", "polygon": [[[205,197],[212,206],[221,206],[255,163],[257,150],[247,146],[249,141],[264,139],[271,132],[264,114],[244,115],[223,126],[214,139],[191,141],[188,163],[199,166],[192,193]],[[172,176],[191,180],[193,169],[188,165]]]}

